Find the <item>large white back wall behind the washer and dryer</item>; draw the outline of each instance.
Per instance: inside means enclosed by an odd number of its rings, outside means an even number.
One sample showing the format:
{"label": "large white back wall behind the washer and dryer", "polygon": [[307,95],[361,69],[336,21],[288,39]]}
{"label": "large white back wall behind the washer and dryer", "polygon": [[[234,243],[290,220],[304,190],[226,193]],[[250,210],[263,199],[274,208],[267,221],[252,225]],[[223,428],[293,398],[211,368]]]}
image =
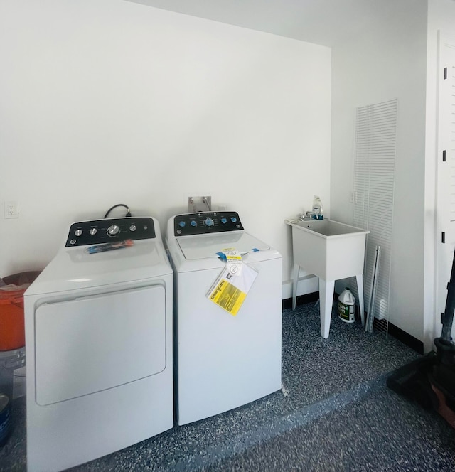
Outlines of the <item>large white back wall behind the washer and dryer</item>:
{"label": "large white back wall behind the washer and dryer", "polygon": [[0,276],[116,203],[163,231],[211,195],[289,281],[283,220],[330,210],[329,48],[122,0],[0,0],[0,44]]}

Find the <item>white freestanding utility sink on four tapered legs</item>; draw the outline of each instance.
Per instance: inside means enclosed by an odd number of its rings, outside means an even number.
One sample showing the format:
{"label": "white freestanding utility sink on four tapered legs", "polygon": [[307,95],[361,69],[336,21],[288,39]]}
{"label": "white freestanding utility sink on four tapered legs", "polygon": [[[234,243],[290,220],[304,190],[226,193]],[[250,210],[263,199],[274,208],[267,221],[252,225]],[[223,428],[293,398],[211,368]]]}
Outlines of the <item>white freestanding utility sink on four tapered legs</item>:
{"label": "white freestanding utility sink on four tapered legs", "polygon": [[335,281],[355,276],[363,313],[363,260],[365,239],[370,231],[333,220],[284,220],[292,227],[294,253],[292,309],[296,307],[300,268],[319,277],[321,336],[328,338]]}

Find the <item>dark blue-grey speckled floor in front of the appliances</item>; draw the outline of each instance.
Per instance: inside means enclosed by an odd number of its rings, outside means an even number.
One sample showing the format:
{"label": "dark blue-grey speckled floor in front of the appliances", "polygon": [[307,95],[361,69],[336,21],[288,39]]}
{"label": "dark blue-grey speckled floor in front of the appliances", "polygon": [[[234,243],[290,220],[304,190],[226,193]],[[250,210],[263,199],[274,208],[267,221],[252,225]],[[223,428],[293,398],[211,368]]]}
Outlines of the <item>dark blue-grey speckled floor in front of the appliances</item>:
{"label": "dark blue-grey speckled floor in front of the appliances", "polygon": [[[71,471],[453,472],[455,430],[385,385],[417,357],[395,338],[336,316],[323,339],[314,303],[286,309],[282,391]],[[23,398],[13,415],[0,471],[26,471]]]}

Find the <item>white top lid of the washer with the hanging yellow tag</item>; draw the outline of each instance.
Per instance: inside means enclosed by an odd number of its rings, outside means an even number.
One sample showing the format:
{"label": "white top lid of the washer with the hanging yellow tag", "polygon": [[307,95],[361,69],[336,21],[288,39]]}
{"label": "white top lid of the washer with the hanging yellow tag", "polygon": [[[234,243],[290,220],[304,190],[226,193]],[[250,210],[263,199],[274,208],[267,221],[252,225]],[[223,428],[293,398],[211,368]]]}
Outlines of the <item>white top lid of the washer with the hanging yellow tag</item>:
{"label": "white top lid of the washer with the hanging yellow tag", "polygon": [[269,250],[270,246],[245,231],[218,233],[216,235],[196,235],[176,238],[183,256],[188,260],[218,257],[217,252],[228,247],[240,254]]}

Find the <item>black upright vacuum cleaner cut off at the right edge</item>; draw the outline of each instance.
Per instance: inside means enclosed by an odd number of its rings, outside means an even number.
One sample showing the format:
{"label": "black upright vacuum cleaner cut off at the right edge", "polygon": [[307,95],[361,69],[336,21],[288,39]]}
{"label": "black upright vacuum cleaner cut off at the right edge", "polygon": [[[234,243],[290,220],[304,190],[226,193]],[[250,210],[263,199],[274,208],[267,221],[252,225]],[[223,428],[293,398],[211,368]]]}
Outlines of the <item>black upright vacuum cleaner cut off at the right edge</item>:
{"label": "black upright vacuum cleaner cut off at the right edge", "polygon": [[455,252],[441,320],[441,337],[434,340],[436,352],[432,351],[392,372],[387,378],[387,387],[424,409],[436,410],[455,428],[455,343],[451,338],[454,311]]}

